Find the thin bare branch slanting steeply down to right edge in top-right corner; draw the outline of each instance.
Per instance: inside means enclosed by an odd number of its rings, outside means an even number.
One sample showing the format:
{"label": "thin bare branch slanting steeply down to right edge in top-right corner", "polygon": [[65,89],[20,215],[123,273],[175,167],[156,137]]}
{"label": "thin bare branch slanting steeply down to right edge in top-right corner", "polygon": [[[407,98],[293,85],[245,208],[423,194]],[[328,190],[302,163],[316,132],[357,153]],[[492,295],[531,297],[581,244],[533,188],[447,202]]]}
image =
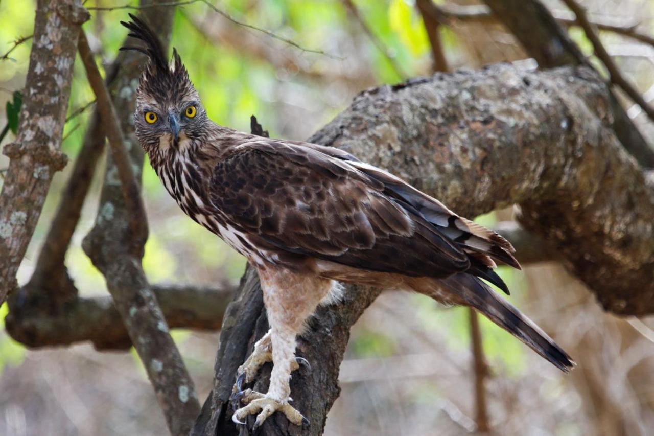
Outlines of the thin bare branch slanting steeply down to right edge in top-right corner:
{"label": "thin bare branch slanting steeply down to right edge in top-right corner", "polygon": [[654,121],[654,107],[651,107],[649,104],[647,104],[647,101],[645,101],[642,94],[640,94],[640,92],[638,92],[638,90],[636,90],[636,88],[634,88],[634,86],[632,86],[632,84],[630,84],[622,75],[618,66],[615,64],[615,62],[613,62],[613,58],[611,58],[610,54],[608,54],[606,51],[606,48],[604,48],[604,45],[602,45],[602,41],[600,40],[600,36],[596,31],[596,27],[588,20],[588,17],[586,16],[586,10],[581,7],[581,5],[579,5],[579,3],[577,3],[575,0],[563,0],[563,2],[568,5],[570,10],[572,10],[572,12],[574,12],[577,16],[577,22],[579,23],[579,26],[583,28],[586,36],[593,44],[595,56],[597,56],[602,61],[608,70],[611,82],[622,88],[622,90],[625,91],[631,100],[633,100],[634,103],[639,105],[640,108],[643,109],[645,113],[647,113],[647,117]]}

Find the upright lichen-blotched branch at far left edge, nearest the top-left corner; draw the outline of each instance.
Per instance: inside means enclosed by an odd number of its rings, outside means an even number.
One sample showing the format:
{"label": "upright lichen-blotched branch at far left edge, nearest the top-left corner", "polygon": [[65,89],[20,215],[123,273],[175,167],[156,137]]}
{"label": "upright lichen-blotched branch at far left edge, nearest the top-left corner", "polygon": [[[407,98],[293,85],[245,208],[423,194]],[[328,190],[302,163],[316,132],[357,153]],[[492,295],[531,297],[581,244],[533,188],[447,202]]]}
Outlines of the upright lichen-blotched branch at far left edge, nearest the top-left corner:
{"label": "upright lichen-blotched branch at far left edge, nearest the top-left corner", "polygon": [[61,134],[71,92],[80,26],[79,0],[39,0],[34,43],[18,121],[4,149],[11,159],[0,193],[0,304],[16,287],[16,271],[41,215],[55,172],[66,164]]}

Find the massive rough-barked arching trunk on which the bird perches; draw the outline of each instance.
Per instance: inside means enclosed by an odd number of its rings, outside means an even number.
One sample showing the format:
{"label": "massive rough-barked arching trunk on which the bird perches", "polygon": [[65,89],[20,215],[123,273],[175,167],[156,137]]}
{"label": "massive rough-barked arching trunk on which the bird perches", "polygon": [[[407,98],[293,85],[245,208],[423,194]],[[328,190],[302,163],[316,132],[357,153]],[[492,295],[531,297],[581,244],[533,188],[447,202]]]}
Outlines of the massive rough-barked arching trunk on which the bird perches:
{"label": "massive rough-barked arching trunk on which the bird perches", "polygon": [[[587,68],[528,73],[496,65],[362,92],[310,140],[364,156],[465,216],[519,204],[526,225],[557,246],[606,308],[646,314],[654,311],[654,190],[613,136],[609,100]],[[348,287],[300,338],[298,354],[313,371],[294,374],[291,390],[312,422],[306,434],[322,433],[349,328],[378,294]],[[192,434],[249,434],[230,421],[229,397],[237,366],[266,330],[249,270],[225,314],[215,387]],[[256,390],[265,391],[269,369]],[[301,430],[276,414],[264,432]]]}

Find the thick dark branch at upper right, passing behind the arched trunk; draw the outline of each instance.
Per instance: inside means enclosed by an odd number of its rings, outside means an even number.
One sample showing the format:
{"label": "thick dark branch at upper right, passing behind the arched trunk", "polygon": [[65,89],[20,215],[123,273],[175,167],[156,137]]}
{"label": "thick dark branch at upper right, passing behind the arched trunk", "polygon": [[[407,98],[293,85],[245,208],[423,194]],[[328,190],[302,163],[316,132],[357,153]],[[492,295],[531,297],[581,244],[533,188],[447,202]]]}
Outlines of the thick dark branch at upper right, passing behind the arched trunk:
{"label": "thick dark branch at upper right, passing behind the arched trunk", "polygon": [[[590,66],[579,47],[540,0],[484,0],[542,68]],[[654,168],[654,149],[610,93],[613,130],[622,145],[645,168]]]}

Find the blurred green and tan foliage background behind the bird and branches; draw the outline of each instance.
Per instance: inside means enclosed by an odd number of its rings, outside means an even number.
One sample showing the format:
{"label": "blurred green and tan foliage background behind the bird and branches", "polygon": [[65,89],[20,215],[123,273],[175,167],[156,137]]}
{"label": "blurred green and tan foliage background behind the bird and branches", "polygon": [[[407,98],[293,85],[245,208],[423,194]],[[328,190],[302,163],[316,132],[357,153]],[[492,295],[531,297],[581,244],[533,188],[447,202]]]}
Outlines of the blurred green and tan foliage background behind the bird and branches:
{"label": "blurred green and tan foliage background behind the bird and branches", "polygon": [[[471,6],[474,1],[437,1]],[[555,16],[574,17],[557,1]],[[654,33],[654,1],[581,2],[591,18]],[[126,0],[89,0],[122,6]],[[135,1],[129,4],[136,4]],[[430,74],[430,43],[411,0],[227,0],[215,3],[243,21],[296,41],[303,51],[237,26],[199,2],[178,7],[171,45],[181,53],[209,116],[249,131],[254,114],[272,137],[306,139],[361,90]],[[365,27],[353,16],[356,7]],[[0,1],[0,55],[30,35],[35,1]],[[118,25],[128,10],[94,10],[85,28],[93,50],[109,65],[125,37]],[[370,36],[369,32],[373,34]],[[439,27],[451,69],[493,62],[535,62],[513,36],[490,20],[451,20]],[[577,27],[570,35],[585,54],[592,46]],[[616,33],[601,33],[623,73],[654,97],[654,48]],[[31,41],[0,60],[0,101],[22,88]],[[70,112],[94,100],[77,61]],[[652,126],[625,100],[645,137]],[[73,158],[91,111],[67,122],[63,151]],[[0,126],[5,124],[4,112]],[[5,137],[2,145],[11,141]],[[365,157],[365,156],[364,156]],[[7,167],[0,156],[0,169]],[[19,282],[33,270],[71,165],[58,173],[22,263]],[[86,201],[67,267],[82,295],[103,295],[103,276],[80,248],[97,210],[101,174]],[[0,180],[1,183],[1,180]],[[150,237],[144,267],[152,283],[237,283],[245,261],[178,208],[146,162],[143,189]],[[477,221],[494,225],[513,211]],[[490,425],[502,435],[647,435],[654,433],[654,321],[604,314],[584,286],[557,263],[522,272],[500,267],[510,300],[543,327],[578,363],[565,376],[512,336],[481,319],[489,363]],[[0,307],[0,323],[7,305]],[[649,324],[649,327],[648,327]],[[212,386],[218,332],[174,331],[198,395]],[[474,370],[468,311],[442,308],[416,295],[385,293],[355,325],[341,366],[341,397],[325,434],[457,435],[475,429]],[[28,350],[0,328],[0,435],[160,435],[167,432],[154,391],[133,350],[96,352],[90,344]]]}

